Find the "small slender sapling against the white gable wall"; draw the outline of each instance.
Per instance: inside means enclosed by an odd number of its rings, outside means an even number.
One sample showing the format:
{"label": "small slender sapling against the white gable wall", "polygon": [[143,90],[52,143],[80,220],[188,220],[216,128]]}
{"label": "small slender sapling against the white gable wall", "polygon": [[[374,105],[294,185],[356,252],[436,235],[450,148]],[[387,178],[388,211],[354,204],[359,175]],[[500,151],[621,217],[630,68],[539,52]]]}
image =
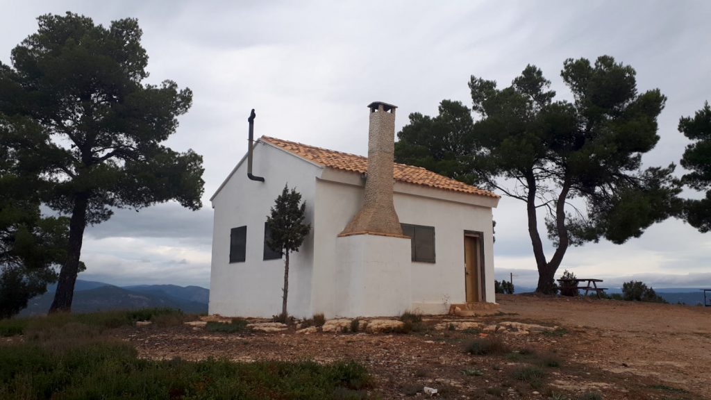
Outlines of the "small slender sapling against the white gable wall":
{"label": "small slender sapling against the white gable wall", "polygon": [[267,238],[267,245],[274,251],[284,254],[284,288],[282,291],[282,314],[279,319],[287,320],[287,297],[289,295],[289,253],[299,251],[301,243],[311,231],[311,225],[304,223],[306,219],[306,202],[301,203],[301,194],[295,189],[289,190],[284,185],[282,194],[277,197],[272,206],[271,214],[267,216],[267,228],[272,236]]}

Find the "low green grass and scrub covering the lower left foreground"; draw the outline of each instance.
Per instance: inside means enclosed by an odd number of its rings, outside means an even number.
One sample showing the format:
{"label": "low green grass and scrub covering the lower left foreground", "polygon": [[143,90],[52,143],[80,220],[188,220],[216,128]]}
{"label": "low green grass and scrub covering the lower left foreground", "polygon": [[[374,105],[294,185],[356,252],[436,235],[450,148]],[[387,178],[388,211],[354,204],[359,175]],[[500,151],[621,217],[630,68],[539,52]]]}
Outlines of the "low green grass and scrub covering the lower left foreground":
{"label": "low green grass and scrub covering the lower left foreground", "polygon": [[139,359],[131,345],[106,332],[137,320],[173,323],[181,313],[144,310],[1,321],[4,332],[21,332],[24,340],[0,345],[0,399],[367,398],[364,389],[371,379],[355,362]]}

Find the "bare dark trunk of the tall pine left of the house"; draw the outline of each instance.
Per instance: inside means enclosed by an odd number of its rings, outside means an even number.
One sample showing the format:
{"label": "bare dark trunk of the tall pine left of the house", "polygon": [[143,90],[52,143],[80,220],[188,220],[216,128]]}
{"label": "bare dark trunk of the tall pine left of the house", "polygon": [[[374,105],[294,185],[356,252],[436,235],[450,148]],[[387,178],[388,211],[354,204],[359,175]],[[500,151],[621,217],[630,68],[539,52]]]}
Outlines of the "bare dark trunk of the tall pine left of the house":
{"label": "bare dark trunk of the tall pine left of the house", "polygon": [[49,309],[50,314],[53,312],[70,312],[72,310],[74,285],[77,282],[77,273],[79,273],[79,257],[82,252],[84,228],[87,226],[88,202],[89,195],[85,193],[77,194],[74,199],[72,218],[69,221],[67,260],[59,273],[57,291],[54,293],[54,301]]}

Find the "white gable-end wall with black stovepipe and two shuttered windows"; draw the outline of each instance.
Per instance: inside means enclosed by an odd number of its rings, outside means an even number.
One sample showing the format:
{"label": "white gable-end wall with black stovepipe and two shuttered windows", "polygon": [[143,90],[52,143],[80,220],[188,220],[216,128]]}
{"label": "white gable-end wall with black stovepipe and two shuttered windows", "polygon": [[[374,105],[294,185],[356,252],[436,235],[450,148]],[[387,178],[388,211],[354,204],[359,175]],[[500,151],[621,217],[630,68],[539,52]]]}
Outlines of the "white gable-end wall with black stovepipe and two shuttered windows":
{"label": "white gable-end wall with black stovepipe and two shuttered windows", "polygon": [[[284,184],[296,188],[306,201],[306,220],[312,225],[289,267],[289,314],[311,316],[311,280],[314,258],[314,196],[321,168],[283,150],[257,143],[252,173],[264,183],[247,178],[242,162],[213,197],[213,251],[210,268],[210,314],[271,317],[282,310],[284,259],[262,260],[264,221],[282,193]],[[230,229],[247,226],[244,263],[230,263]]]}

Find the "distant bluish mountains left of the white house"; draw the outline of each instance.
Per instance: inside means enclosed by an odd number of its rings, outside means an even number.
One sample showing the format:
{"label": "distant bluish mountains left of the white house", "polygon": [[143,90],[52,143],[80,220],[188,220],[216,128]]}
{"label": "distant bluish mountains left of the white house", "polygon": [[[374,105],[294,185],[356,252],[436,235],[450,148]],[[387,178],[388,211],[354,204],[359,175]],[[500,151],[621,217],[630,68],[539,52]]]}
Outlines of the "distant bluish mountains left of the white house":
{"label": "distant bluish mountains left of the white house", "polygon": [[[28,302],[20,316],[42,315],[49,310],[56,285],[47,293]],[[170,307],[184,312],[208,312],[210,290],[199,286],[132,285],[118,287],[103,282],[77,280],[74,288],[73,312],[106,310],[135,310],[139,308]]]}

